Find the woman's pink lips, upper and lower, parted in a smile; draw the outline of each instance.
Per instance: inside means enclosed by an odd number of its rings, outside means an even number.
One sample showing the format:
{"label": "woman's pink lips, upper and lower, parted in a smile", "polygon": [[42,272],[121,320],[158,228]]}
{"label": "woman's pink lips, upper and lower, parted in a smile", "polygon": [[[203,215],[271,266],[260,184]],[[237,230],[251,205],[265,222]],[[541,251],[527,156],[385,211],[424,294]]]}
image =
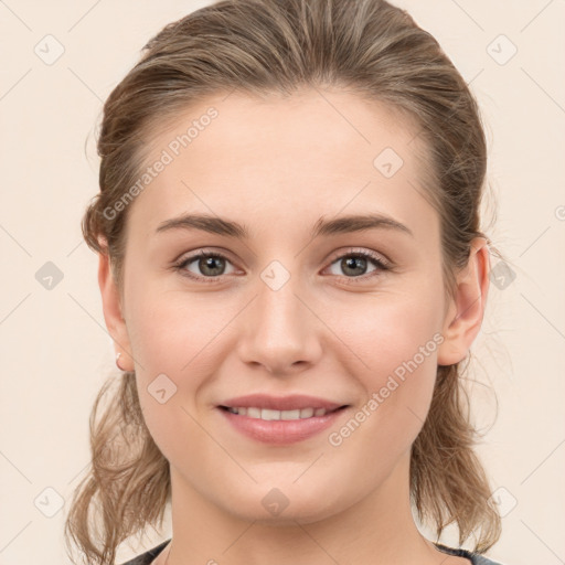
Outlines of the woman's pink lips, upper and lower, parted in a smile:
{"label": "woman's pink lips, upper and lower, parted in a smile", "polygon": [[[268,408],[276,411],[292,411],[302,408],[326,408],[323,416],[312,416],[303,419],[264,420],[233,414],[225,407]],[[216,409],[224,418],[244,436],[264,444],[285,446],[297,441],[303,441],[320,434],[347,412],[349,405],[338,404],[323,398],[307,395],[291,395],[275,397],[264,394],[252,394],[225,401]],[[331,412],[329,412],[331,411]]]}

